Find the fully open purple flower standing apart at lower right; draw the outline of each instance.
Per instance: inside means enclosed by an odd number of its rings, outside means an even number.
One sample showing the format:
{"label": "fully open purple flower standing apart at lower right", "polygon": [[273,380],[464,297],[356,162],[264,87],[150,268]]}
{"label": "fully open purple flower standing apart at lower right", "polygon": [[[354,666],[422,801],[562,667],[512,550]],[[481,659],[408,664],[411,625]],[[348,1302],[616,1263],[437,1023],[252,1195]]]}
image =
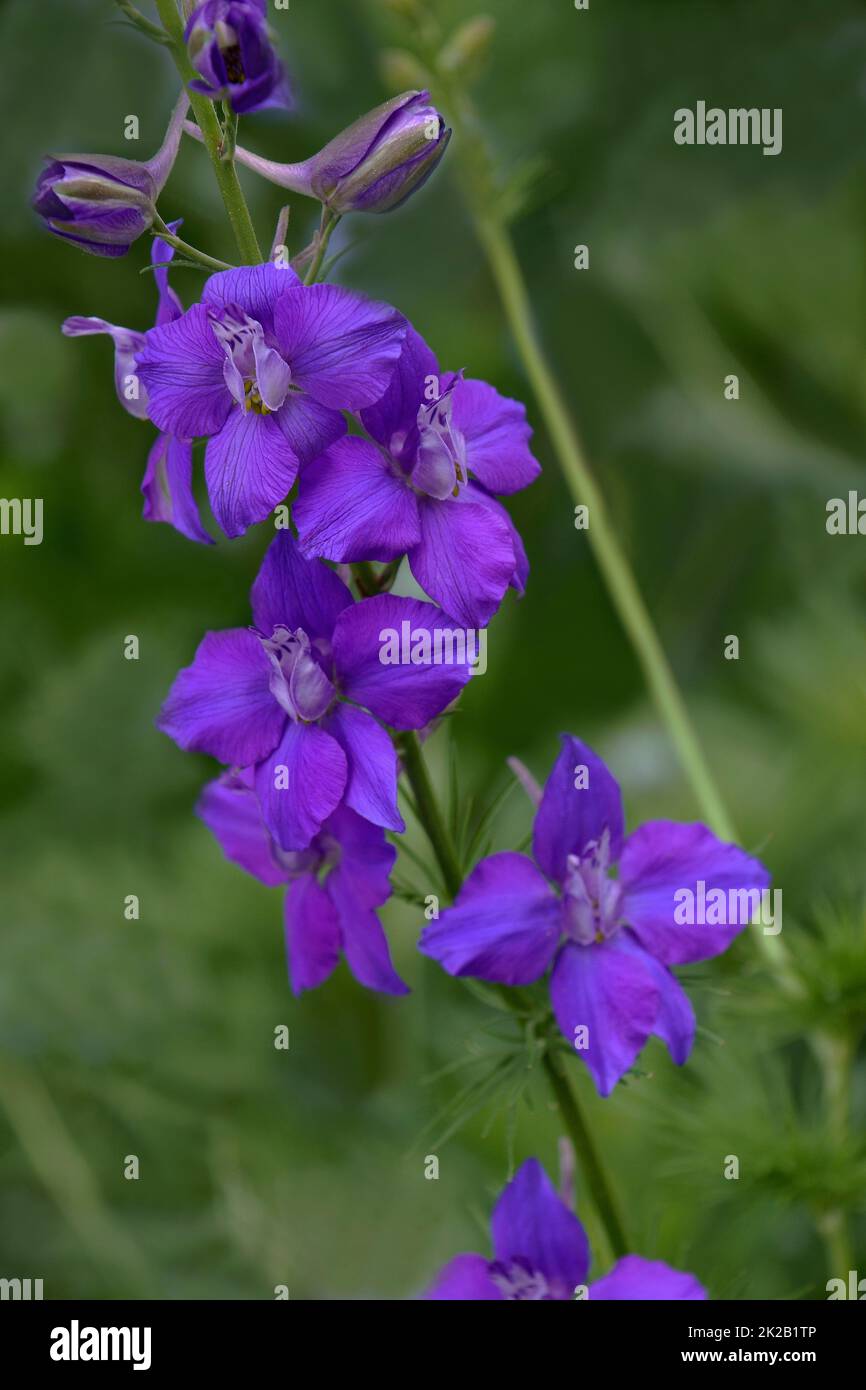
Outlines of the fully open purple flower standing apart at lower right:
{"label": "fully open purple flower standing apart at lower right", "polygon": [[420,949],[449,974],[502,984],[530,984],[553,966],[556,1020],[609,1095],[651,1033],[685,1062],[695,1019],[670,966],[719,955],[749,922],[735,912],[734,922],[680,926],[676,894],[699,897],[703,883],[705,894],[735,894],[735,903],[751,894],[753,903],[770,876],[706,826],[652,820],[623,842],[617,781],[580,739],[562,744],[535,816],[535,863],[484,859]]}

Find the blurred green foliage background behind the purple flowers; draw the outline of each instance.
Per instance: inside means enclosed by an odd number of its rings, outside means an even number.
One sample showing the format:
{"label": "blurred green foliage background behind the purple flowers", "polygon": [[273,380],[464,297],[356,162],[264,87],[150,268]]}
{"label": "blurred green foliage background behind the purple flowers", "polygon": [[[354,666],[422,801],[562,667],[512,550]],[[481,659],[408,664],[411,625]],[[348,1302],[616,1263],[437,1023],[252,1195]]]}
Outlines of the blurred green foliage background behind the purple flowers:
{"label": "blurred green foliage background behind the purple flowers", "polygon": [[[438,8],[446,28],[474,14]],[[687,972],[702,1024],[689,1066],[653,1042],[609,1101],[577,1063],[575,1086],[635,1251],[692,1269],[716,1298],[826,1297],[847,1276],[819,1234],[828,1211],[845,1211],[866,1276],[866,541],[824,528],[827,500],[865,484],[866,7],[485,8],[496,35],[477,100],[500,168],[532,175],[513,234],[544,338],[742,842],[784,891],[805,983],[792,1009],[740,941]],[[200,634],[247,621],[268,531],[206,550],[143,524],[152,431],[114,399],[107,339],[60,335],[68,314],[153,318],[145,242],[101,261],[28,207],[44,152],[147,158],[161,140],[171,61],[114,19],[110,0],[0,10],[14,56],[0,95],[0,495],[44,499],[40,548],[0,538],[0,1275],[43,1277],[49,1298],[271,1298],[275,1284],[411,1297],[457,1251],[487,1250],[512,1161],[556,1170],[556,1118],[527,1072],[514,1113],[495,1095],[443,1137],[463,1076],[434,1077],[477,1055],[468,1074],[484,1080],[499,1044],[491,1011],[418,956],[417,908],[385,910],[410,998],[374,997],[341,966],[295,1001],[281,895],[224,862],[192,815],[207,760],[154,728]],[[405,35],[375,0],[293,0],[272,22],[299,107],[245,120],[242,142],[296,160],[389,95],[379,53]],[[673,111],[698,99],[783,107],[781,156],[677,147]],[[279,190],[242,179],[270,243]],[[189,142],[161,211],[232,257]],[[293,207],[293,250],[311,215]],[[399,306],[443,364],[527,399],[545,466],[513,502],[530,588],[505,603],[487,676],[430,744],[441,784],[449,739],[464,794],[484,801],[506,785],[507,755],[541,778],[570,730],[620,777],[630,824],[696,819],[573,527],[449,160],[400,213],[343,224],[349,243],[338,278]],[[573,268],[577,243],[588,271]],[[190,302],[200,277],[181,270],[175,285]],[[723,657],[727,634],[738,662]],[[516,792],[496,848],[528,826]],[[428,890],[409,862],[400,876]],[[128,894],[139,922],[124,919]],[[272,1045],[281,1023],[288,1052]],[[816,1027],[840,1079],[830,1098],[805,1041]],[[738,1182],[723,1177],[730,1154]]]}

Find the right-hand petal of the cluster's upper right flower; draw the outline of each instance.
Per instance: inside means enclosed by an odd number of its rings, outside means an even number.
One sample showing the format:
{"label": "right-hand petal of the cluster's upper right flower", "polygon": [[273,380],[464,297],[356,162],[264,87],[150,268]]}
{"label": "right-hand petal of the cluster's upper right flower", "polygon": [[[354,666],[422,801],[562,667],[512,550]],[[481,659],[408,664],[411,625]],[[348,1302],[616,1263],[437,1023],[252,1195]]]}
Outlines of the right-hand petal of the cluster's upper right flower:
{"label": "right-hand petal of the cluster's upper right flower", "polygon": [[466,461],[491,492],[520,492],[541,473],[530,452],[532,431],[524,406],[487,381],[456,384],[453,423],[466,439]]}

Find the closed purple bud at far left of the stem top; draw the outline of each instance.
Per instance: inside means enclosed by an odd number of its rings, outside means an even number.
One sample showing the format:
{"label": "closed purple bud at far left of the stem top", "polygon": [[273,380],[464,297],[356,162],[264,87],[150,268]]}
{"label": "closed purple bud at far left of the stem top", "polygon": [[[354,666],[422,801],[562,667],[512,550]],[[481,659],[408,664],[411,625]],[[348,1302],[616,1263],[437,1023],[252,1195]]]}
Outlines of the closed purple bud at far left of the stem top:
{"label": "closed purple bud at far left of the stem top", "polygon": [[153,225],[156,202],[177,158],[186,92],[160,150],[147,163],[111,154],[53,154],[39,175],[33,207],[47,229],[93,256],[125,256]]}

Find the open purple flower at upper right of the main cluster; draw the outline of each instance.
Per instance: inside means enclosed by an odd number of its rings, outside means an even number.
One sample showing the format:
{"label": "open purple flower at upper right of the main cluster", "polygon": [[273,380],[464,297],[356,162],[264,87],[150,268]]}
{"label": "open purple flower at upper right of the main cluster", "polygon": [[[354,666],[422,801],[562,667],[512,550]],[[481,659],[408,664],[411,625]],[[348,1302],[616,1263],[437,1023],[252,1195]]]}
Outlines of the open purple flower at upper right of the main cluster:
{"label": "open purple flower at upper right of the main cluster", "polygon": [[361,421],[371,439],[341,439],[303,473],[295,521],[304,555],[386,562],[406,552],[431,599],[467,627],[485,627],[528,574],[493,496],[541,471],[524,407],[484,381],[441,375],[410,328],[388,391]]}

